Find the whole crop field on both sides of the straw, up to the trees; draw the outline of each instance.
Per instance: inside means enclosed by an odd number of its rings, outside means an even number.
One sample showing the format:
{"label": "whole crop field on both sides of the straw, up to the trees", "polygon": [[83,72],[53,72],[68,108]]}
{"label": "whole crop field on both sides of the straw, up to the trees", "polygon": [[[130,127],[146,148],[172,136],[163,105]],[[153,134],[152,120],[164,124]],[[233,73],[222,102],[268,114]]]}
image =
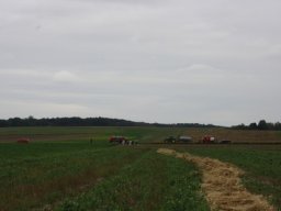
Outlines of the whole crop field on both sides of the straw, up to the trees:
{"label": "whole crop field on both sides of the straw, up to the trees", "polygon": [[[157,154],[158,147],[236,165],[245,171],[243,185],[281,210],[281,145],[155,144],[169,135],[204,133],[238,142],[243,135],[255,143],[281,140],[279,132],[226,129],[0,129],[0,210],[210,210],[198,166]],[[139,144],[110,144],[110,135]],[[19,137],[31,142],[18,144]]]}

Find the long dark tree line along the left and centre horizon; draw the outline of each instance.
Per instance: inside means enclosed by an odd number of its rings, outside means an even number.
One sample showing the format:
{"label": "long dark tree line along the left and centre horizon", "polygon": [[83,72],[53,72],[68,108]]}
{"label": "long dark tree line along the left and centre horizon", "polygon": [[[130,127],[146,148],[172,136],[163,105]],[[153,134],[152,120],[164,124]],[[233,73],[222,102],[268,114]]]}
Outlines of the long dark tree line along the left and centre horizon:
{"label": "long dark tree line along the left and centre horizon", "polygon": [[175,127],[210,127],[212,124],[198,123],[179,123],[179,124],[162,124],[162,123],[146,123],[134,122],[122,119],[110,118],[43,118],[35,119],[29,116],[25,119],[10,118],[0,120],[0,127],[8,126],[175,126]]}

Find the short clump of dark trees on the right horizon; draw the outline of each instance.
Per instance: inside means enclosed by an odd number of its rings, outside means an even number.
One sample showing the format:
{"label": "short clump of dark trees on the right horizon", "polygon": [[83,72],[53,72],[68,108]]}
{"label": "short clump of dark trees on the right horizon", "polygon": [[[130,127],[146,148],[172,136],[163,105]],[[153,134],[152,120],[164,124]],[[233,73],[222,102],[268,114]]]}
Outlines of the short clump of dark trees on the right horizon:
{"label": "short clump of dark trees on the right horizon", "polygon": [[266,120],[260,120],[258,123],[254,122],[250,123],[249,125],[245,124],[239,124],[233,126],[233,129],[238,129],[238,130],[260,130],[260,131],[281,131],[281,123],[270,123],[267,122]]}

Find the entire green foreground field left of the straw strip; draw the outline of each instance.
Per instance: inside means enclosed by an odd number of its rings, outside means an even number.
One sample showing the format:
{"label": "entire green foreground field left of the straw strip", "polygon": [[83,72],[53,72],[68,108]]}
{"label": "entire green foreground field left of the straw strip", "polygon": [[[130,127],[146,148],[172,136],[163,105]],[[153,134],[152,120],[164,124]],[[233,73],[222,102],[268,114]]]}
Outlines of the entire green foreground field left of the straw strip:
{"label": "entire green foreground field left of the straw strip", "polygon": [[155,149],[88,142],[0,148],[0,210],[209,210],[195,167]]}

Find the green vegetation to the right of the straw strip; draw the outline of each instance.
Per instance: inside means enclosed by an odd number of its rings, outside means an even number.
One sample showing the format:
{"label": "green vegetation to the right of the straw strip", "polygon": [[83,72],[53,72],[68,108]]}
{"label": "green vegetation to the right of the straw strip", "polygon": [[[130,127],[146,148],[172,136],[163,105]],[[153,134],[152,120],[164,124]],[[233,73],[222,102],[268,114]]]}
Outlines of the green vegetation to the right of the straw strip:
{"label": "green vegetation to the right of the straw strip", "polygon": [[235,164],[246,173],[245,187],[267,196],[281,210],[281,146],[205,146],[181,151]]}

